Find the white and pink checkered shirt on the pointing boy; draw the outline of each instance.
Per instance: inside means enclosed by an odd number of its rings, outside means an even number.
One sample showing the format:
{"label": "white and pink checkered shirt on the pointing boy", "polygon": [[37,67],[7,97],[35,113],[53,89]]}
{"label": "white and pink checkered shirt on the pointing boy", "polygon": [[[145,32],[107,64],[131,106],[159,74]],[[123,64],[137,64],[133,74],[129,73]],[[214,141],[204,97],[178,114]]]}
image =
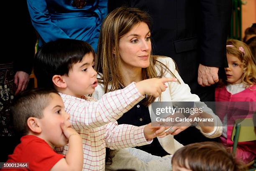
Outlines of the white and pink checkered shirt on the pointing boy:
{"label": "white and pink checkered shirt on the pointing boy", "polygon": [[[124,89],[105,94],[99,101],[92,97],[77,98],[59,94],[66,112],[70,114],[73,128],[82,137],[84,171],[105,170],[105,147],[121,149],[151,143],[145,139],[144,126],[118,125],[116,121],[144,98],[134,82]],[[60,152],[61,149],[56,148],[56,151]],[[68,145],[64,147],[64,155],[67,150]]]}

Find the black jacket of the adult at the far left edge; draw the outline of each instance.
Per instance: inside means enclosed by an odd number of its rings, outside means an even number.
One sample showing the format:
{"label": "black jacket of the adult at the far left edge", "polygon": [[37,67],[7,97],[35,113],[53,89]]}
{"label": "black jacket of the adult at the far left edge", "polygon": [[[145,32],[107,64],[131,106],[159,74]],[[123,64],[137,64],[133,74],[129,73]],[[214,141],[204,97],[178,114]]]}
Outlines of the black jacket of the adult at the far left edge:
{"label": "black jacket of the adult at the far left edge", "polygon": [[13,63],[14,71],[31,73],[36,45],[36,32],[31,24],[26,0],[15,3],[3,1],[2,49],[5,55],[0,57],[0,63]]}

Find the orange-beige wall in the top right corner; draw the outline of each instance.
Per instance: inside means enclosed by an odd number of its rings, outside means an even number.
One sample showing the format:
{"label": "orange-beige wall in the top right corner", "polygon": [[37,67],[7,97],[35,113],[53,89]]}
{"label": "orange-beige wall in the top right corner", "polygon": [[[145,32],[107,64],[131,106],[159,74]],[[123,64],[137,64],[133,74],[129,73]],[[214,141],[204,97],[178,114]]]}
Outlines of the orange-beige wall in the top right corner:
{"label": "orange-beige wall in the top right corner", "polygon": [[256,0],[242,0],[247,1],[246,5],[242,5],[242,39],[244,31],[247,27],[251,27],[252,23],[256,23]]}

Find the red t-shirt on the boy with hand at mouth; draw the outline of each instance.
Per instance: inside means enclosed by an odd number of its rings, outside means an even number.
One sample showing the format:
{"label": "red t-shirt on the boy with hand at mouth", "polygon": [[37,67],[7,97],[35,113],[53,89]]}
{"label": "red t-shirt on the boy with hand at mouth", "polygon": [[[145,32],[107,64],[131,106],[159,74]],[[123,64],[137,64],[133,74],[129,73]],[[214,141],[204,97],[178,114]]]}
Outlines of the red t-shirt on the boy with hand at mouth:
{"label": "red t-shirt on the boy with hand at mouth", "polygon": [[21,137],[20,144],[15,147],[7,162],[28,162],[28,169],[6,169],[6,171],[49,171],[63,155],[56,153],[49,144],[33,135]]}

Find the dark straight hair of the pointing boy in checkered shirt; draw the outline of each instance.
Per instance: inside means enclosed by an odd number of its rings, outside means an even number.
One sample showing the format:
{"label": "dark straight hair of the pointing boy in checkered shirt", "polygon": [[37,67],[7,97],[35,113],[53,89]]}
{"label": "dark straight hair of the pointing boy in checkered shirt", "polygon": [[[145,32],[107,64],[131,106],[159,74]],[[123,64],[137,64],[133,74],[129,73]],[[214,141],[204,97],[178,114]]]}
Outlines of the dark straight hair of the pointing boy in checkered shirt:
{"label": "dark straight hair of the pointing boy in checkered shirt", "polygon": [[91,45],[82,40],[59,39],[44,44],[36,53],[34,73],[40,87],[54,88],[54,75],[68,75],[73,64],[81,62],[84,55],[95,52]]}

